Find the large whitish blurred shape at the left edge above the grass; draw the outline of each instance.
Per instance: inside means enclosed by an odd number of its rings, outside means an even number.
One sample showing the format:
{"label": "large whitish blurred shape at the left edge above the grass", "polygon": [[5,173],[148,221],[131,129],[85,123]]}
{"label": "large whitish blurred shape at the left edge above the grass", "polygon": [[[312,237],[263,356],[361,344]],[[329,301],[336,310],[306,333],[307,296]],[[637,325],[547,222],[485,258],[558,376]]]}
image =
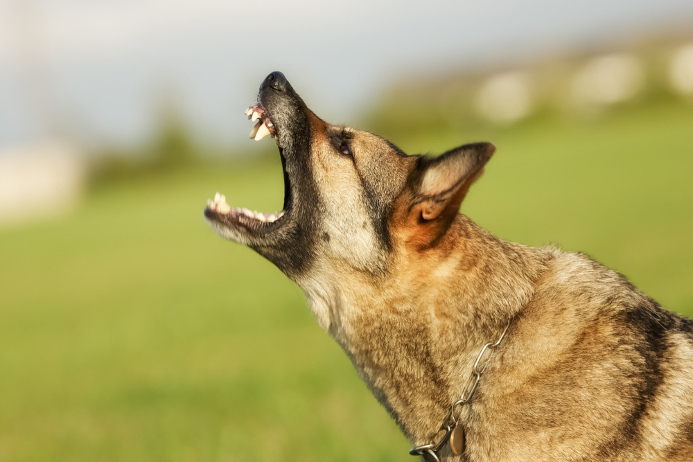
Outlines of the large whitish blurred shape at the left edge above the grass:
{"label": "large whitish blurred shape at the left edge above the grass", "polygon": [[78,151],[60,141],[0,149],[0,226],[69,211],[84,189],[85,173]]}

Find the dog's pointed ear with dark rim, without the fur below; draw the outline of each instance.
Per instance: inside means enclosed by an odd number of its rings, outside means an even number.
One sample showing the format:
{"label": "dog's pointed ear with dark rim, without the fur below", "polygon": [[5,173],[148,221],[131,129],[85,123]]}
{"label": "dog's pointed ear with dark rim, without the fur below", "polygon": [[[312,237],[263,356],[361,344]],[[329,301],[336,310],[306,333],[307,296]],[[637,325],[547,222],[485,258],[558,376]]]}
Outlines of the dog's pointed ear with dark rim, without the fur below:
{"label": "dog's pointed ear with dark rim, without the fur below", "polygon": [[419,184],[412,191],[410,217],[419,223],[435,220],[447,226],[494,151],[491,143],[474,143],[435,159],[422,157],[417,168]]}

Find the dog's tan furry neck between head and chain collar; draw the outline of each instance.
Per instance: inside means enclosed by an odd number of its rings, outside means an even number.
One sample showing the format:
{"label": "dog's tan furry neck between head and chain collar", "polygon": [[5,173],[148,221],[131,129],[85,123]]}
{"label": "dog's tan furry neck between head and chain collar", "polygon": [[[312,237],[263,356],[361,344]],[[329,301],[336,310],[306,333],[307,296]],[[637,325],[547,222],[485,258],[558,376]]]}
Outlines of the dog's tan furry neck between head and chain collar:
{"label": "dog's tan furry neck between head and chain collar", "polygon": [[378,401],[421,443],[464,391],[478,349],[532,298],[550,254],[465,215],[432,249],[399,248],[387,274],[330,267],[299,284]]}

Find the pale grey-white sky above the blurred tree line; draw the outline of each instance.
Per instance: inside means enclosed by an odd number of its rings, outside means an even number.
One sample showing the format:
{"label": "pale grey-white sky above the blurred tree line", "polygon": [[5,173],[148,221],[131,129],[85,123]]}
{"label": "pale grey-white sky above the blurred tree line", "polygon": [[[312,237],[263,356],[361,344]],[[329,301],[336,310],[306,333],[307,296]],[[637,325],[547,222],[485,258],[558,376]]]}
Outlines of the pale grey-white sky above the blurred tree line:
{"label": "pale grey-white sky above the blurred tree line", "polygon": [[53,126],[89,143],[142,141],[172,96],[201,136],[243,141],[243,111],[274,70],[319,115],[353,123],[407,76],[692,19],[691,0],[0,0],[0,147]]}

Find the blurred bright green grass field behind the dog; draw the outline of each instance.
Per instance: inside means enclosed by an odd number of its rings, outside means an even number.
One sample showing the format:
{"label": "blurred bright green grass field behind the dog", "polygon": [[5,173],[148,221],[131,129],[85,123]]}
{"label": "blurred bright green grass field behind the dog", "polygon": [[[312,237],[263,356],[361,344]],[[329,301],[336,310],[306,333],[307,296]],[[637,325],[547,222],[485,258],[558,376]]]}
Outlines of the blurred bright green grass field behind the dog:
{"label": "blurred bright green grass field behind the dog", "polygon": [[[693,314],[690,106],[383,134],[407,152],[492,141],[465,213]],[[216,190],[281,208],[278,156],[107,184],[69,217],[0,231],[1,461],[409,460],[301,290],[204,223]]]}

